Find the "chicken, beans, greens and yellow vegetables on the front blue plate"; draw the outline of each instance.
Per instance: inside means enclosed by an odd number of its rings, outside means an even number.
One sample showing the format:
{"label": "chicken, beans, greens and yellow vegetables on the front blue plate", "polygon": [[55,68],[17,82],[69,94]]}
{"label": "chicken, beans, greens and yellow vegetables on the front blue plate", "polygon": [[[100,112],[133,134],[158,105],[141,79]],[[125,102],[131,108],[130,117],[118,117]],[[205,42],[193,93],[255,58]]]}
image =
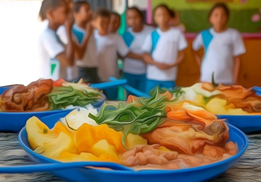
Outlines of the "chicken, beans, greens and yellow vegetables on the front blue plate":
{"label": "chicken, beans, greens and yellow vegetables on the front blue plate", "polygon": [[37,117],[26,123],[34,152],[60,162],[103,161],[135,170],[197,167],[235,155],[229,128],[201,107],[171,104],[168,91],[129,96],[118,106],[78,108],[49,129]]}

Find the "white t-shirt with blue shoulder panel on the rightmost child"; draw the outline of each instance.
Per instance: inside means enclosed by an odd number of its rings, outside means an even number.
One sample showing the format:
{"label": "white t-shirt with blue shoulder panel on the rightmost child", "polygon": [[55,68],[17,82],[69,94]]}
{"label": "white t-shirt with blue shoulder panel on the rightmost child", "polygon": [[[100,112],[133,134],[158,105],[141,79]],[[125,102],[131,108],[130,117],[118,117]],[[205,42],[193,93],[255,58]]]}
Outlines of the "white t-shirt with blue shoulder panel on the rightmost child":
{"label": "white t-shirt with blue shoulder panel on the rightmost child", "polygon": [[233,57],[246,52],[244,42],[236,29],[215,32],[214,28],[197,35],[192,48],[197,51],[204,47],[205,54],[201,63],[201,82],[212,82],[214,72],[215,83],[232,84],[234,81]]}

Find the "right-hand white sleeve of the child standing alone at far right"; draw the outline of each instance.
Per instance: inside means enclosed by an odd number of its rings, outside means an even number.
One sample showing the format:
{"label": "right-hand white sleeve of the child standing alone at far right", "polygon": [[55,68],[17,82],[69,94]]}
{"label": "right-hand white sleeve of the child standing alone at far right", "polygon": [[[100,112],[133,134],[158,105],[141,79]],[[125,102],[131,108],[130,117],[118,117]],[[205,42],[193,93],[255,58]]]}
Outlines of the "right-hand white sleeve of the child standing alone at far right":
{"label": "right-hand white sleeve of the child standing alone at far right", "polygon": [[235,32],[234,40],[233,40],[233,56],[237,57],[246,53],[246,48],[242,39],[242,36],[238,31]]}

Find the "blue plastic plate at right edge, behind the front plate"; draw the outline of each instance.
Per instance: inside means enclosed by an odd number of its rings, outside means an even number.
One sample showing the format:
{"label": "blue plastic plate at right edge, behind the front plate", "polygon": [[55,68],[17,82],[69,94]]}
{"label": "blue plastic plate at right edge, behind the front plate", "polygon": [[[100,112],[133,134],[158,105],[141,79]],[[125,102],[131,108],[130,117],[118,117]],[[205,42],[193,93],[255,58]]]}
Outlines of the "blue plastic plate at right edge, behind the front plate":
{"label": "blue plastic plate at right edge, behind the front plate", "polygon": [[236,126],[245,133],[261,131],[261,115],[221,115],[216,114],[219,119],[226,119],[226,123]]}

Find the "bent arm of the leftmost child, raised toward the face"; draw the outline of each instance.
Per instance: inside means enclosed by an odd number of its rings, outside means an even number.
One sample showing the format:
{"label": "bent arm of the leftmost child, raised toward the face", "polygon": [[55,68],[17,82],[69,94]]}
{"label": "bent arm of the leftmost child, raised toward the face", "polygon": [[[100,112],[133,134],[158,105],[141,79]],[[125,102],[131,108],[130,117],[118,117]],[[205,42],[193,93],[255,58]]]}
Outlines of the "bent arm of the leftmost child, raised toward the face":
{"label": "bent arm of the leftmost child, raised toward the face", "polygon": [[56,58],[61,62],[62,66],[73,66],[74,63],[74,49],[73,49],[73,41],[72,41],[72,26],[73,26],[73,17],[71,17],[65,23],[66,32],[68,35],[68,45],[66,46],[65,52],[60,53]]}

